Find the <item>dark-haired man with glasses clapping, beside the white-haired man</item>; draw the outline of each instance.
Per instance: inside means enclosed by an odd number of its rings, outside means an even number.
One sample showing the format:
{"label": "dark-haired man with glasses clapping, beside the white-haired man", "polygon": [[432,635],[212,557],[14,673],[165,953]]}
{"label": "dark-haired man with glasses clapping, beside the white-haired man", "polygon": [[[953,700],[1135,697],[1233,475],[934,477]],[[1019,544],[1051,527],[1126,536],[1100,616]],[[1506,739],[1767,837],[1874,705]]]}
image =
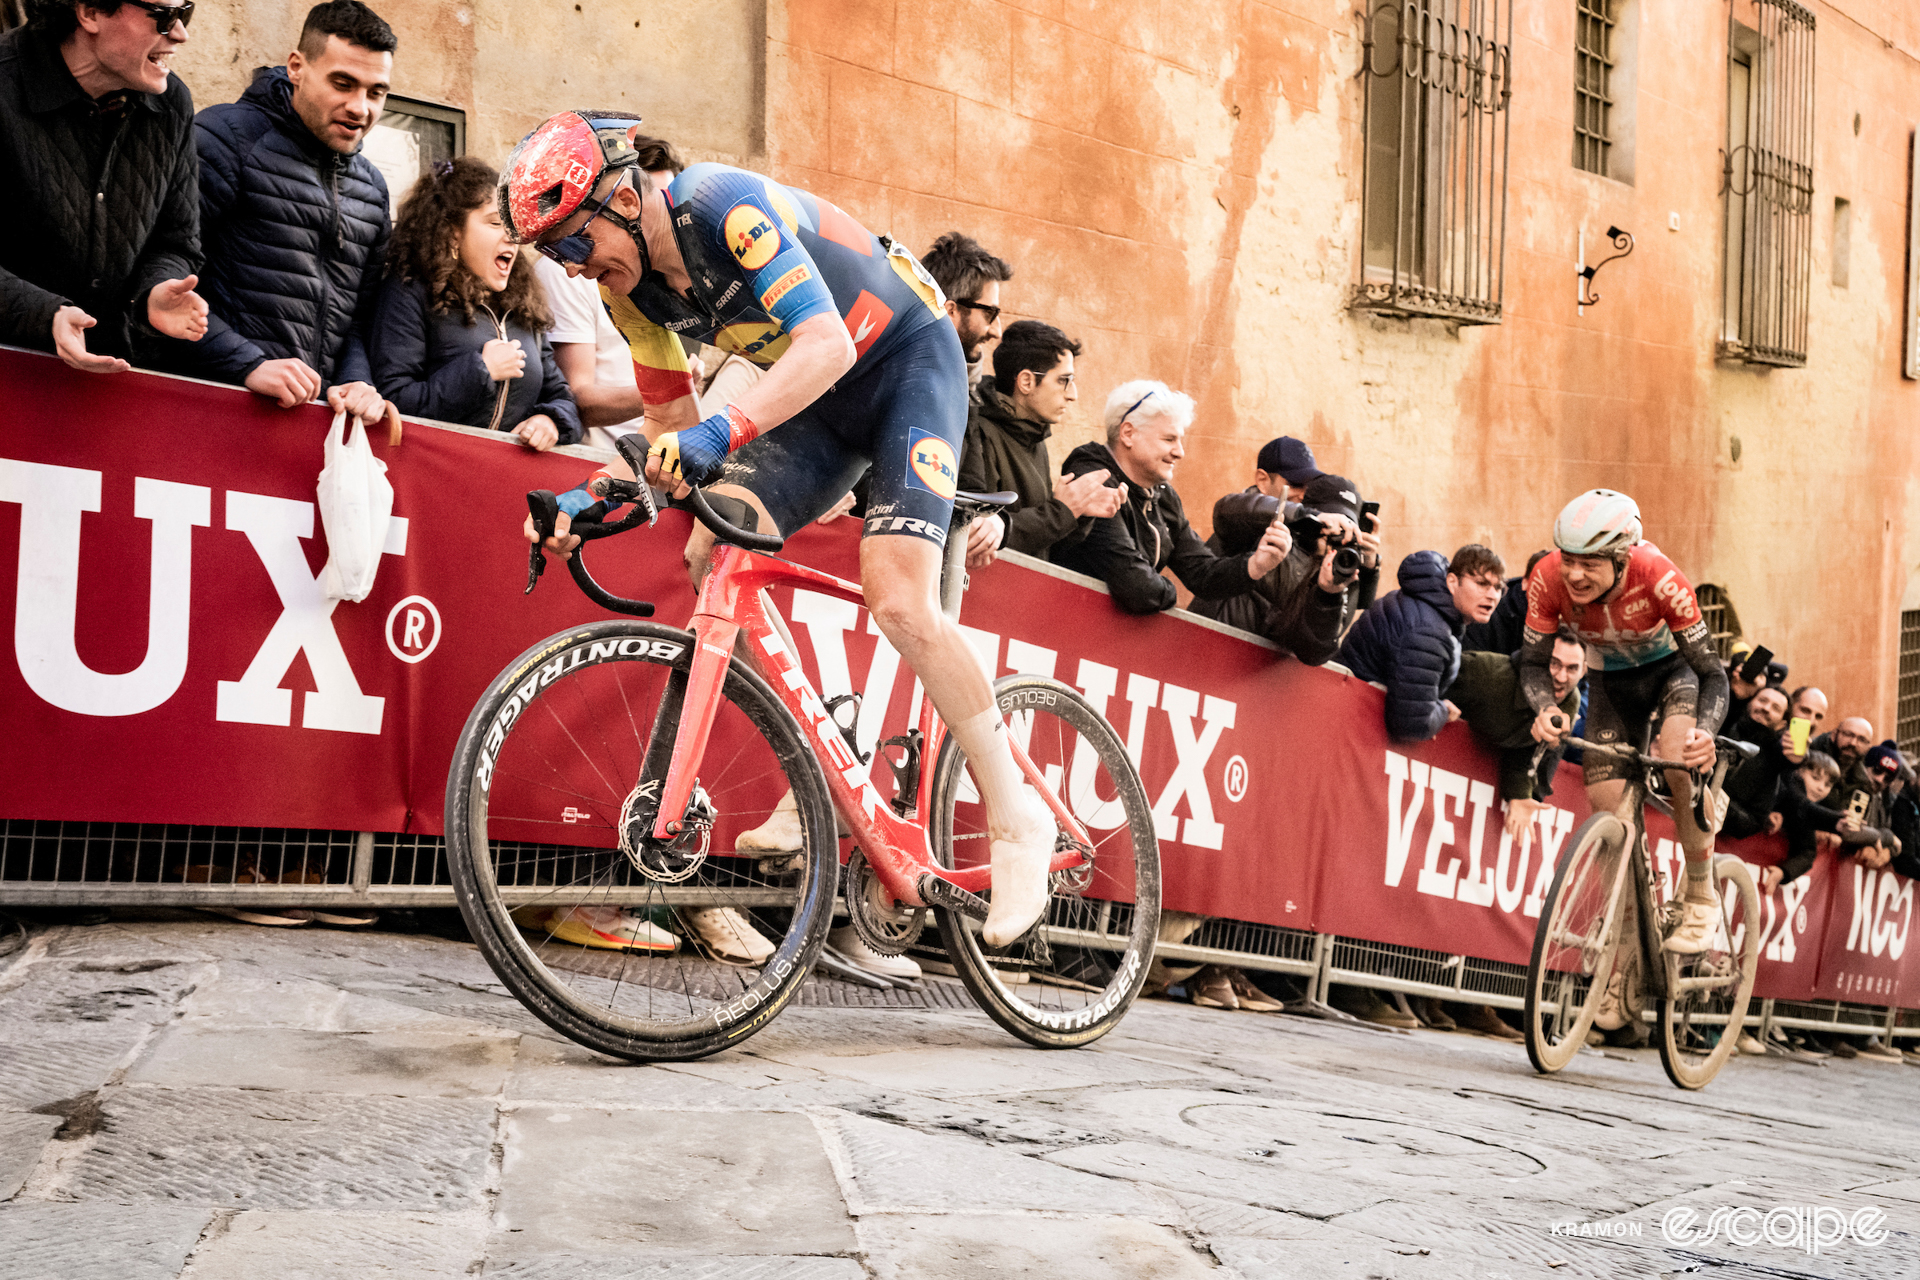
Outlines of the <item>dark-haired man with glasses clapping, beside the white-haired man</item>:
{"label": "dark-haired man with glasses clapping, beside the white-haired man", "polygon": [[1039,320],[1010,324],[993,349],[993,378],[979,384],[968,411],[960,487],[1012,489],[1020,503],[968,526],[968,564],[985,564],[1002,547],[1044,557],[1054,543],[1083,537],[1096,518],[1119,510],[1121,491],[1108,486],[1106,470],[1062,476],[1046,453],[1054,424],[1079,399],[1073,390],[1079,349]]}

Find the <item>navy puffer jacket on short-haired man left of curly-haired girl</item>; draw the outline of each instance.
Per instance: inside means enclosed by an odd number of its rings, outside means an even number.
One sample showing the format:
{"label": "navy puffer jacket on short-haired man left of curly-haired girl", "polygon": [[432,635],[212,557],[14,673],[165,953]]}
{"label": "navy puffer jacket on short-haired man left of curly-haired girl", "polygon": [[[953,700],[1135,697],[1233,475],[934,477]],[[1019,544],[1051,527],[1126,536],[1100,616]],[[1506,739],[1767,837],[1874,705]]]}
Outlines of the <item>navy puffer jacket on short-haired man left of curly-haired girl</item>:
{"label": "navy puffer jacket on short-haired man left of curly-haired girl", "polygon": [[386,178],[313,136],[284,67],[202,111],[194,144],[211,317],[200,342],[169,344],[169,363],[238,386],[292,357],[328,386],[372,382],[363,336],[386,263]]}

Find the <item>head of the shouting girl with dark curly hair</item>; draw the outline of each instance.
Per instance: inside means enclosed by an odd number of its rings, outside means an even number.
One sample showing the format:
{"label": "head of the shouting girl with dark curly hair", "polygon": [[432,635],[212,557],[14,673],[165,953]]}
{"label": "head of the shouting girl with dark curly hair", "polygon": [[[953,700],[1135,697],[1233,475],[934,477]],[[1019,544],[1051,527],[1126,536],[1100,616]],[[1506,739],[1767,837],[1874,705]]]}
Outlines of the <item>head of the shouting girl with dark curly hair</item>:
{"label": "head of the shouting girl with dark curly hair", "polygon": [[472,324],[474,309],[490,307],[503,317],[511,313],[526,328],[543,334],[553,328],[553,311],[534,276],[534,263],[516,251],[518,246],[501,246],[497,253],[511,259],[507,288],[497,292],[463,261],[468,257],[468,242],[480,238],[482,226],[499,221],[493,215],[497,182],[499,175],[470,155],[444,159],[420,175],[399,205],[394,240],[386,249],[386,273],[424,284],[436,315],[459,307],[461,317]]}

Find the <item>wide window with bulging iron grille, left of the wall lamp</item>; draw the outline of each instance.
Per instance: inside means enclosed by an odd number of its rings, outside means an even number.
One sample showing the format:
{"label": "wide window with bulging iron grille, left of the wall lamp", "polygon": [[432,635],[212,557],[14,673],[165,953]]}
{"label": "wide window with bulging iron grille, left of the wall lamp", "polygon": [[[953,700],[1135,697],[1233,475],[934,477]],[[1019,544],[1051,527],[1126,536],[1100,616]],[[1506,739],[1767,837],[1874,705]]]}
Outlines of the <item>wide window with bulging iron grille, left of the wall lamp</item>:
{"label": "wide window with bulging iron grille, left of the wall lamp", "polygon": [[1498,324],[1507,248],[1513,0],[1367,13],[1357,311]]}

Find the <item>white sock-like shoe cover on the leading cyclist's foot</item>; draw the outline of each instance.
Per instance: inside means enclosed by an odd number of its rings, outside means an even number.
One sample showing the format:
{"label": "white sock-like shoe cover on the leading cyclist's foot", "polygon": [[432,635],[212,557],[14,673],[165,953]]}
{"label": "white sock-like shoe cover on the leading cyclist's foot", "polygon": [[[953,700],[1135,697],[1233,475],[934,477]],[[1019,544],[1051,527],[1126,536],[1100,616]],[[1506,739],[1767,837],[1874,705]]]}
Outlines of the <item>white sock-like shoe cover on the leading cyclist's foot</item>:
{"label": "white sock-like shoe cover on the leading cyclist's foot", "polygon": [[996,708],[947,725],[966,752],[973,785],[987,804],[993,898],[981,938],[987,946],[1016,942],[1046,910],[1046,864],[1054,854],[1054,816],[1021,781]]}

